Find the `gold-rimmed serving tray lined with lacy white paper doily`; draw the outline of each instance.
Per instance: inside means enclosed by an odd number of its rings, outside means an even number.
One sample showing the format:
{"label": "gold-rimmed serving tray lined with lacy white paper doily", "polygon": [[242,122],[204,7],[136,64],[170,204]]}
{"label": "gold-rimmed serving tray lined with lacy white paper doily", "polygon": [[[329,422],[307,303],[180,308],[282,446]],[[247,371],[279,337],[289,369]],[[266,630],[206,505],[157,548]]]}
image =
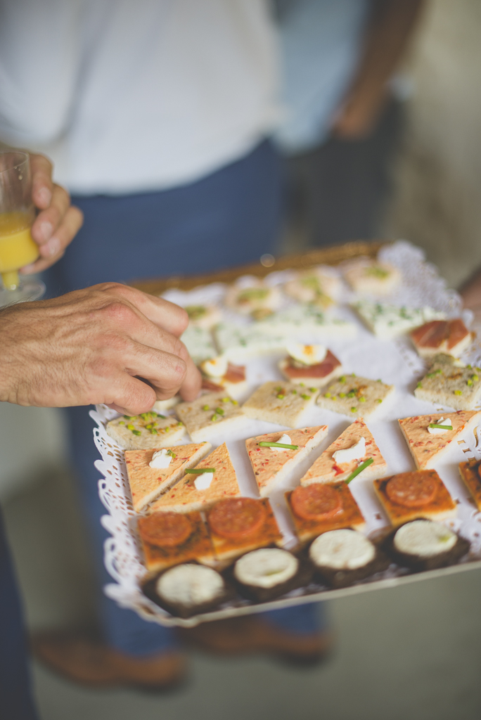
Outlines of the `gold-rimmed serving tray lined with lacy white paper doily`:
{"label": "gold-rimmed serving tray lined with lacy white paper doily", "polygon": [[[448,317],[463,315],[465,322],[472,319],[469,311],[462,311],[462,302],[456,292],[446,289],[446,284],[439,277],[436,269],[426,264],[423,253],[404,241],[397,243],[350,243],[349,246],[331,248],[328,251],[315,251],[295,258],[283,258],[282,269],[266,269],[262,266],[250,267],[248,270],[256,275],[267,276],[267,282],[278,284],[284,282],[292,275],[292,269],[306,267],[309,265],[323,263],[338,264],[346,262],[356,254],[375,255],[379,251],[379,257],[397,266],[403,273],[403,285],[395,294],[390,297],[389,302],[396,305],[410,305],[411,307],[422,307],[431,305],[436,310],[446,313]],[[281,263],[279,263],[280,265]],[[157,284],[150,283],[150,292],[164,292],[165,297],[181,304],[219,301],[225,292],[225,282],[230,282],[244,274],[246,269],[229,271],[228,277],[217,274],[209,276],[210,283],[199,286],[194,279],[184,279],[177,283],[180,289],[167,289],[166,282],[159,281]],[[147,284],[143,284],[143,289]],[[192,288],[195,289],[192,289]],[[167,292],[166,292],[167,291]],[[346,292],[346,300],[350,299],[349,292]],[[326,341],[328,347],[338,356],[346,372],[356,372],[358,375],[366,375],[377,379],[382,378],[384,382],[395,384],[396,393],[392,401],[387,402],[385,408],[380,408],[379,413],[368,420],[369,429],[379,445],[385,457],[389,474],[404,472],[413,469],[413,460],[410,457],[408,447],[397,426],[397,418],[410,415],[421,415],[433,412],[433,405],[417,400],[413,395],[413,388],[419,377],[423,375],[425,366],[421,358],[415,354],[407,338],[401,337],[394,341],[382,341],[375,338],[369,330],[365,329],[359,320],[348,307],[343,306],[337,310],[338,317],[351,320],[358,325],[356,338],[332,338]],[[478,336],[480,333],[478,333]],[[261,359],[249,361],[247,364],[247,377],[249,392],[253,388],[269,379],[279,379],[277,361],[280,356],[267,356]],[[463,357],[464,361],[473,365],[481,364],[481,345],[477,341],[469,349],[469,356]],[[436,405],[436,411],[443,410]],[[220,609],[203,615],[194,616],[189,619],[181,619],[171,616],[166,611],[156,606],[143,595],[140,590],[140,580],[145,575],[145,567],[142,564],[142,551],[140,540],[136,531],[137,514],[132,508],[130,490],[127,482],[127,472],[122,449],[118,447],[112,438],[105,431],[105,424],[108,420],[117,416],[117,413],[101,405],[91,411],[91,417],[96,421],[94,428],[94,441],[102,456],[102,460],[96,461],[96,468],[102,474],[99,480],[99,496],[107,508],[108,514],[102,517],[102,525],[110,534],[104,546],[104,562],[109,574],[115,580],[104,588],[105,593],[117,601],[120,606],[130,608],[139,613],[140,616],[149,621],[157,622],[164,626],[194,626],[199,622],[218,620],[233,616],[256,613],[269,609],[282,608],[312,603],[331,598],[339,598],[346,595],[366,592],[380,588],[389,588],[393,585],[401,585],[406,582],[414,582],[449,575],[464,570],[471,570],[481,567],[481,513],[477,511],[469,492],[459,479],[458,463],[464,459],[475,457],[481,459],[481,443],[478,440],[477,431],[465,436],[463,441],[452,444],[449,452],[436,465],[452,498],[458,506],[458,516],[446,521],[448,526],[469,539],[471,552],[462,562],[451,567],[431,570],[428,572],[410,572],[392,564],[388,570],[379,573],[367,580],[356,583],[349,588],[332,590],[322,585],[312,584],[306,588],[300,588],[284,595],[279,600],[269,603],[251,603],[248,600],[237,600],[227,603]],[[295,487],[299,478],[304,474],[307,467],[314,462],[315,458],[331,442],[349,426],[349,418],[337,413],[332,413],[315,406],[310,410],[310,415],[305,420],[305,426],[328,424],[329,433],[325,441],[307,457],[305,462],[300,464],[271,495],[271,505],[277,517],[279,527],[284,536],[284,545],[289,548],[295,545],[295,535],[284,503],[284,492]],[[240,491],[243,495],[258,497],[256,482],[253,477],[251,465],[244,441],[247,437],[256,436],[262,433],[279,431],[280,426],[272,423],[265,423],[259,420],[251,420],[248,428],[242,434],[226,433],[219,436],[214,445],[226,441],[233,464],[238,476]],[[185,442],[189,442],[186,437]],[[367,534],[375,533],[388,525],[387,518],[377,498],[374,495],[372,482],[363,481],[362,475],[353,480],[350,485],[354,498],[356,498],[361,512],[367,521]]]}

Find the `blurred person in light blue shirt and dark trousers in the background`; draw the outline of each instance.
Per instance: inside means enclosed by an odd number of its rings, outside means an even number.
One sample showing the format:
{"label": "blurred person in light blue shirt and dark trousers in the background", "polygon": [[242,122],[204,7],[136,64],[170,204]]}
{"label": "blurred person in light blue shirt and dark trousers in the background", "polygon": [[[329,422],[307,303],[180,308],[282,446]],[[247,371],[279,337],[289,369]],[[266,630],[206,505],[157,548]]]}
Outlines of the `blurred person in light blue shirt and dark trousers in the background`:
{"label": "blurred person in light blue shirt and dark trousers in the background", "polygon": [[275,0],[289,220],[310,245],[379,236],[403,129],[395,76],[423,0]]}

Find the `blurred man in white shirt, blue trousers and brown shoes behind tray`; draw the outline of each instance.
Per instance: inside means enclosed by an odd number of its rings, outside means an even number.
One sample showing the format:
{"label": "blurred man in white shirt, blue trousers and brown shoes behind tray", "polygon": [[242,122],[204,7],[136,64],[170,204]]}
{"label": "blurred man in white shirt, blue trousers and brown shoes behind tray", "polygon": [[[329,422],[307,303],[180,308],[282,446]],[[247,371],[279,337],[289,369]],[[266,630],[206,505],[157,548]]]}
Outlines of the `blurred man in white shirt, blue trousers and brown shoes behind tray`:
{"label": "blurred man in white shirt, blue trousers and brown shoes behind tray", "polygon": [[[84,212],[65,256],[55,221],[45,222],[42,258],[23,271],[58,261],[47,282],[59,294],[272,252],[282,183],[267,138],[279,117],[278,71],[267,0],[0,0],[0,140],[53,158]],[[67,413],[102,640],[50,634],[37,638],[37,657],[84,683],[166,687],[184,672],[174,631],[102,593],[111,580],[93,423],[86,408]],[[186,639],[302,661],[326,644],[313,606],[209,624]]]}

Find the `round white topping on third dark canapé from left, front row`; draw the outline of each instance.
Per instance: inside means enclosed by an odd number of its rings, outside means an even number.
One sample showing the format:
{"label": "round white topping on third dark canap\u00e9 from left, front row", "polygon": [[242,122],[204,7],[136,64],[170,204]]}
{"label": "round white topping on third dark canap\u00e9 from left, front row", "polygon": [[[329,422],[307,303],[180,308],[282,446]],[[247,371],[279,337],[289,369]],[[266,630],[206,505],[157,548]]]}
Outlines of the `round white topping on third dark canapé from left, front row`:
{"label": "round white topping on third dark canap\u00e9 from left, front row", "polygon": [[376,549],[356,530],[330,530],[315,539],[309,556],[318,567],[356,570],[374,560]]}

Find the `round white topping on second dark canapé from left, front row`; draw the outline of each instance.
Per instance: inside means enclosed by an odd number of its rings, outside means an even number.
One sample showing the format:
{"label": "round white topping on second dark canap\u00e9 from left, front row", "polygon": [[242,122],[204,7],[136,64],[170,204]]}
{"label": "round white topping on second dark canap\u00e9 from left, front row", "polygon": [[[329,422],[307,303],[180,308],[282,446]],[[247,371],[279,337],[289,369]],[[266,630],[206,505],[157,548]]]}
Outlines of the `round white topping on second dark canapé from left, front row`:
{"label": "round white topping on second dark canap\u00e9 from left, front row", "polygon": [[287,582],[297,572],[297,557],[278,548],[253,550],[235,563],[234,575],[244,585],[256,588],[274,588]]}

